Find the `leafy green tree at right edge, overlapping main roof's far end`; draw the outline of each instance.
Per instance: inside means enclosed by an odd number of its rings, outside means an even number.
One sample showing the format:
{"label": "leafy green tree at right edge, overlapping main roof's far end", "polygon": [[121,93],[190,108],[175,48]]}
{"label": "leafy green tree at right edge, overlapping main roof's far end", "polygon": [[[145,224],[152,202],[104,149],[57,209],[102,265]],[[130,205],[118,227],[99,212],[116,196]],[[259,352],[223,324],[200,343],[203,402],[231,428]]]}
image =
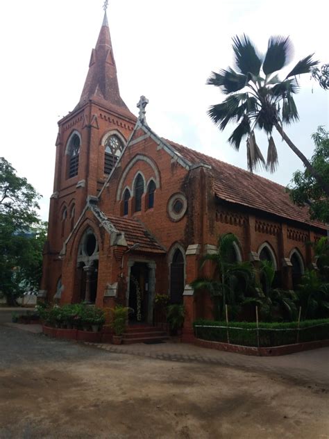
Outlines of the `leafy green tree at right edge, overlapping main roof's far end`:
{"label": "leafy green tree at right edge, overlapping main roof's far end", "polygon": [[[312,135],[315,144],[314,154],[310,160],[317,174],[329,184],[329,132],[319,126]],[[299,206],[308,206],[312,219],[329,223],[329,197],[309,169],[294,173],[288,187],[292,201]]]}

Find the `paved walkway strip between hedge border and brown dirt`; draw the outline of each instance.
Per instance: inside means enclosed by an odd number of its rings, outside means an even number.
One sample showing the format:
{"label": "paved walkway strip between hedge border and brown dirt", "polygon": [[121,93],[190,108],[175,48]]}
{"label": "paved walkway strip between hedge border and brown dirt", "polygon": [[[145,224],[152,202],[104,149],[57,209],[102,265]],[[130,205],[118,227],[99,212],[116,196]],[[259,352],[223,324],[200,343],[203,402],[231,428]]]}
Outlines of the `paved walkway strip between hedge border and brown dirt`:
{"label": "paved walkway strip between hedge border and brown dirt", "polygon": [[297,381],[317,383],[319,386],[326,386],[329,390],[329,347],[285,356],[257,357],[173,342],[157,345],[144,345],[143,343],[120,346],[103,343],[87,343],[87,345],[116,354],[130,354],[165,361],[217,364],[273,373]]}

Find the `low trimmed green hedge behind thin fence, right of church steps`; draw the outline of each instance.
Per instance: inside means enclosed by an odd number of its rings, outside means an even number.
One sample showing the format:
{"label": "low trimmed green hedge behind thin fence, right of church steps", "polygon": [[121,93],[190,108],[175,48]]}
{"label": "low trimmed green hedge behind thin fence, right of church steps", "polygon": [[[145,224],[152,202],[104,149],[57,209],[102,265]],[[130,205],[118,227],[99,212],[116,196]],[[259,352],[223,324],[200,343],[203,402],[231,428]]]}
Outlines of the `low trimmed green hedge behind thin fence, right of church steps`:
{"label": "low trimmed green hedge behind thin fence, right of church steps", "polygon": [[[220,327],[223,326],[223,327]],[[201,340],[227,343],[240,346],[258,347],[258,333],[260,347],[294,345],[296,342],[313,342],[329,340],[329,319],[304,320],[285,323],[255,322],[214,322],[212,320],[196,320],[194,322],[194,336]]]}

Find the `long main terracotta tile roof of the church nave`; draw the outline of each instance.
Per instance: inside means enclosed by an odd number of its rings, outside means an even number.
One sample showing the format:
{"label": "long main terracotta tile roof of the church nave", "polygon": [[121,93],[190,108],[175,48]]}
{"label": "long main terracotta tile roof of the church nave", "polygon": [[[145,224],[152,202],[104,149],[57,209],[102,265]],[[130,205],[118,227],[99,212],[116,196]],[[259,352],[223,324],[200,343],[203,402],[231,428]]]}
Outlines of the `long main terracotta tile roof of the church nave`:
{"label": "long main terracotta tile roof of the church nave", "polygon": [[284,186],[171,140],[166,142],[192,165],[205,163],[212,167],[214,193],[220,199],[327,229],[326,224],[310,219],[307,208],[293,204]]}

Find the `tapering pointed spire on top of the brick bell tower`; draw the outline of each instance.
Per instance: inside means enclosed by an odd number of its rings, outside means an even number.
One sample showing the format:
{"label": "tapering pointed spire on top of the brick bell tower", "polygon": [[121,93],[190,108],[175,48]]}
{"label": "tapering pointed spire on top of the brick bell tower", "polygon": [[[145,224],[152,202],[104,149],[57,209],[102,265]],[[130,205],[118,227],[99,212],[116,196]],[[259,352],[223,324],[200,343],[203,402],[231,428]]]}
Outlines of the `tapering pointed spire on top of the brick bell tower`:
{"label": "tapering pointed spire on top of the brick bell tower", "polygon": [[96,47],[92,49],[89,71],[85,79],[83,92],[76,108],[83,106],[90,100],[106,106],[110,104],[110,106],[128,110],[119,92],[117,67],[113,56],[106,10]]}

